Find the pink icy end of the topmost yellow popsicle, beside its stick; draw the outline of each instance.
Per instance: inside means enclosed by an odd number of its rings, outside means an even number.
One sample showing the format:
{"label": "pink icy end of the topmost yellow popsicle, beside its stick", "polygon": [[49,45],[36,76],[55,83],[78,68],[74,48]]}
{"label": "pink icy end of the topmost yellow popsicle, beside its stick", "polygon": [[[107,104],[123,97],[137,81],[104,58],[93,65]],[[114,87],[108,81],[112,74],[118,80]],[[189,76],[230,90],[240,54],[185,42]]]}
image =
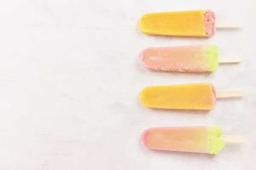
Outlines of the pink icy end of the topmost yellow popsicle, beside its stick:
{"label": "pink icy end of the topmost yellow popsicle, beside its stick", "polygon": [[211,37],[216,32],[215,13],[211,10],[204,13],[204,30],[207,37]]}

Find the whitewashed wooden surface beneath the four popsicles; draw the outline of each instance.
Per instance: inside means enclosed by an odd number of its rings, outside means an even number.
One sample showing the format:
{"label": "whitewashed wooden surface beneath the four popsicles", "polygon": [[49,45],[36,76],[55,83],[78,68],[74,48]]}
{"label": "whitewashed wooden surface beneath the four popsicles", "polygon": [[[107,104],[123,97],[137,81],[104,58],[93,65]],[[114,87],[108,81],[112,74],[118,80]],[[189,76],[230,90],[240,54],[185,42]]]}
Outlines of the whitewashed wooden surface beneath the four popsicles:
{"label": "whitewashed wooden surface beneath the four popsicles", "polygon": [[[142,14],[212,9],[247,23],[212,38],[147,36]],[[255,170],[256,52],[254,0],[1,0],[0,170]],[[241,64],[209,73],[153,72],[138,54],[151,46],[215,43]],[[143,107],[144,86],[212,82],[245,89],[205,111]],[[140,133],[155,126],[218,125],[245,135],[217,156],[145,149]]]}

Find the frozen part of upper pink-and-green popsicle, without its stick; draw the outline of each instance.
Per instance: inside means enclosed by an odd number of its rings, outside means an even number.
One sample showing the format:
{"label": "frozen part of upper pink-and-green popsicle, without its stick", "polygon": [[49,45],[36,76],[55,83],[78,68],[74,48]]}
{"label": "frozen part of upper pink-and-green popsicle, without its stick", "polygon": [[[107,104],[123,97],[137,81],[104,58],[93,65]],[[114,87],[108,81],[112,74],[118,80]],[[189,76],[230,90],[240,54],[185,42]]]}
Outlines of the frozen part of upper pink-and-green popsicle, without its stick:
{"label": "frozen part of upper pink-and-green popsicle, without its stick", "polygon": [[215,71],[219,63],[213,44],[145,48],[139,58],[144,68],[161,71]]}

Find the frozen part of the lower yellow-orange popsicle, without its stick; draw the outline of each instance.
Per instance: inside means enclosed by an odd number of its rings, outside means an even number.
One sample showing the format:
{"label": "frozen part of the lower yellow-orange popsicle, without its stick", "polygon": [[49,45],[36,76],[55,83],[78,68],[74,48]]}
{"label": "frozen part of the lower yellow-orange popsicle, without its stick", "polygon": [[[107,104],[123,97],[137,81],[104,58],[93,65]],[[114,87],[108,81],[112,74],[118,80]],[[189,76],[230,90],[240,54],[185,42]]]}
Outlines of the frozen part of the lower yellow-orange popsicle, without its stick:
{"label": "frozen part of the lower yellow-orange popsicle, without its stick", "polygon": [[216,92],[211,83],[159,85],[145,87],[139,98],[148,108],[212,110]]}

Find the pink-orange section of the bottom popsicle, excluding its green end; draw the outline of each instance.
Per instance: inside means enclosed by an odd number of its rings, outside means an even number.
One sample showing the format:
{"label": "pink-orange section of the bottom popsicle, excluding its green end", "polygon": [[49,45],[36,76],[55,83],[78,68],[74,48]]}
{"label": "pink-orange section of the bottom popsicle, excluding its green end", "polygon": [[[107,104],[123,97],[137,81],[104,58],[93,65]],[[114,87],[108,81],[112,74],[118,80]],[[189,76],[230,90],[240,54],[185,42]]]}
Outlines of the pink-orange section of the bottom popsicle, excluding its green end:
{"label": "pink-orange section of the bottom popsicle, excluding its green end", "polygon": [[148,149],[207,153],[207,135],[207,127],[153,127],[141,141]]}

